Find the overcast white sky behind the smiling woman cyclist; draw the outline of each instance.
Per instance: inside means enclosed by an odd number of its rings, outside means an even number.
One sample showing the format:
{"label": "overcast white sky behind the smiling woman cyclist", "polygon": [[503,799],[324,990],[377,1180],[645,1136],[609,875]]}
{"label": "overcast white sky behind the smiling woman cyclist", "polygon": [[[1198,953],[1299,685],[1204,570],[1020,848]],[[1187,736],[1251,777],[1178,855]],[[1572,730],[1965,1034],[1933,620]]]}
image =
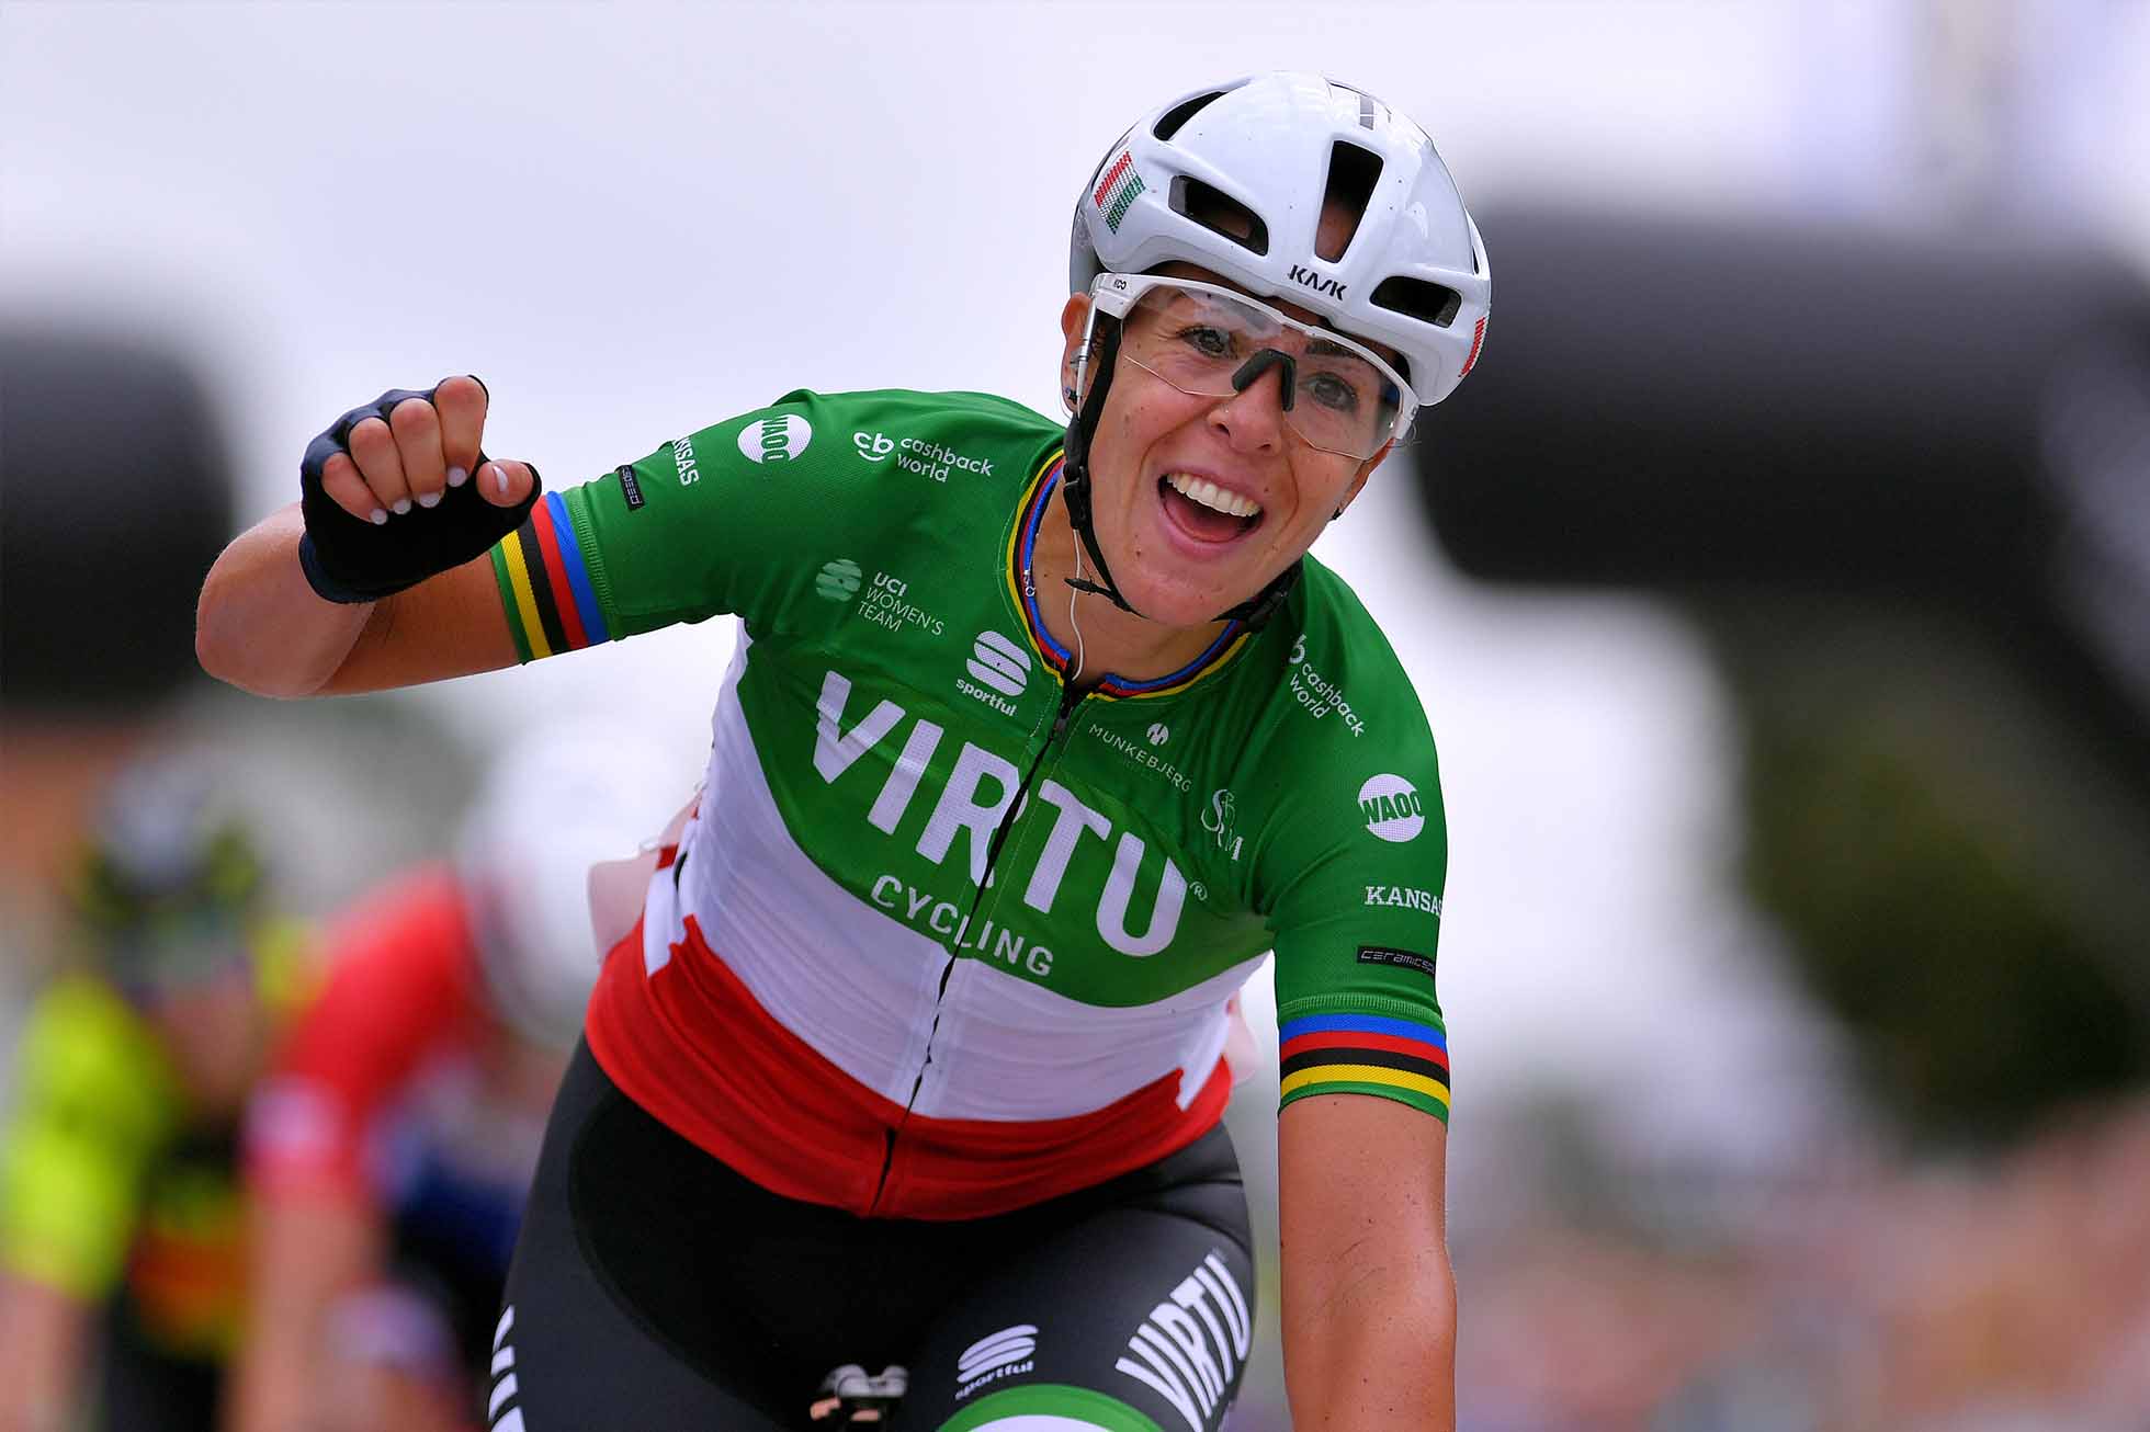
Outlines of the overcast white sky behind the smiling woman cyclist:
{"label": "overcast white sky behind the smiling woman cyclist", "polygon": [[[2032,9],[2000,45],[2025,65],[2025,202],[2146,256],[2150,6]],[[1961,129],[1909,77],[1920,13],[9,0],[0,303],[181,335],[221,376],[249,512],[288,499],[338,411],[449,372],[490,385],[488,447],[553,484],[789,387],[1056,411],[1073,194],[1174,92],[1329,69],[1419,118],[1479,209],[1554,191],[1901,213],[1905,174]],[[1488,363],[1499,288],[1494,310]],[[1789,1112],[1804,1036],[1761,993],[1767,935],[1722,894],[1726,712],[1688,632],[1640,602],[1464,583],[1404,482],[1318,550],[1443,742],[1462,1101],[1563,1077],[1666,1090],[1649,1116],[1696,1129]],[[535,703],[626,705],[699,750],[718,626],[436,699],[473,733]]]}

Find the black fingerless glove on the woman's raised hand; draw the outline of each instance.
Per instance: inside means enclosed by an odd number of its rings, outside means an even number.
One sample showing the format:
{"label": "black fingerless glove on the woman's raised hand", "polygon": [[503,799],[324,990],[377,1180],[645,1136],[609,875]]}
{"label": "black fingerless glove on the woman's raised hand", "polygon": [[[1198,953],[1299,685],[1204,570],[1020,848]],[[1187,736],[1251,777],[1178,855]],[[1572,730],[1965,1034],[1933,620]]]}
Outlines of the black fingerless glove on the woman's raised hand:
{"label": "black fingerless glove on the woman's raised hand", "polygon": [[299,568],[305,570],[307,585],[329,602],[374,602],[482,557],[522,525],[544,490],[544,484],[535,482],[538,469],[531,467],[529,497],[514,507],[494,507],[477,495],[479,473],[486,467],[486,454],[477,454],[471,479],[445,488],[434,507],[413,505],[411,512],[376,527],[335,505],[335,499],[320,488],[320,469],[335,454],[350,452],[344,445],[350,430],[368,417],[387,421],[389,409],[404,398],[432,402],[432,393],[430,387],[424,391],[391,387],[338,417],[327,432],[305,445],[305,458],[299,460],[299,512],[305,518]]}

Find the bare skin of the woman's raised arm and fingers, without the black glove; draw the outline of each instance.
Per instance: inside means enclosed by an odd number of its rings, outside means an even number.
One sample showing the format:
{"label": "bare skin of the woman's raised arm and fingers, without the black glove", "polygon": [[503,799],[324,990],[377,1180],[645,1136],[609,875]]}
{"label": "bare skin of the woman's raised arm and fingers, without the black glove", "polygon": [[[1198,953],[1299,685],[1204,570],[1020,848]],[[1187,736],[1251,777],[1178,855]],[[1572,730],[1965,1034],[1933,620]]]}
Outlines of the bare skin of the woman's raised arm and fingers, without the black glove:
{"label": "bare skin of the woman's raised arm and fingers, without the black glove", "polygon": [[[525,462],[479,462],[477,378],[447,378],[432,398],[383,411],[316,439],[307,503],[256,522],[209,570],[194,647],[213,677],[264,697],[316,697],[514,664],[484,550],[535,473]],[[299,557],[310,522],[312,576]],[[350,600],[368,578],[393,585],[426,568],[436,574]]]}

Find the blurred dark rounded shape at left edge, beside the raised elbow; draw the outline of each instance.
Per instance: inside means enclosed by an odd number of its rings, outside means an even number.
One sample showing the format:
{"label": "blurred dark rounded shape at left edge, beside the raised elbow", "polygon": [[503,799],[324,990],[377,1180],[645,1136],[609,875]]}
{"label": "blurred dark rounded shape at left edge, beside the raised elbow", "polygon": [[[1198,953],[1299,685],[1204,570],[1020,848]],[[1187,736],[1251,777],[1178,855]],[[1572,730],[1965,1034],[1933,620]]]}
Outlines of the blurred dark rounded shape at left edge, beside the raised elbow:
{"label": "blurred dark rounded shape at left edge, beside the raised elbow", "polygon": [[232,533],[224,434],[178,357],[0,329],[0,701],[144,716],[198,679],[194,600]]}

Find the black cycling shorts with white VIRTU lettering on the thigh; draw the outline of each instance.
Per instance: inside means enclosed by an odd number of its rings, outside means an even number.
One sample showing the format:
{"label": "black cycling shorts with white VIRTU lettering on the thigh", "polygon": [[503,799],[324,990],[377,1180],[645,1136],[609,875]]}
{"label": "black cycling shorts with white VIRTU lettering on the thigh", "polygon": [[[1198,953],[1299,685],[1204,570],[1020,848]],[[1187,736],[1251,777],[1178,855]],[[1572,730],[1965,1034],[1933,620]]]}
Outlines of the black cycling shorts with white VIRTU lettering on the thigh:
{"label": "black cycling shorts with white VIRTU lettering on the thigh", "polygon": [[1217,1432],[1253,1340],[1226,1131],[985,1219],[778,1198],[660,1125],[576,1049],[494,1335],[492,1432],[791,1432],[821,1378],[909,1370],[890,1432],[1043,1413]]}

